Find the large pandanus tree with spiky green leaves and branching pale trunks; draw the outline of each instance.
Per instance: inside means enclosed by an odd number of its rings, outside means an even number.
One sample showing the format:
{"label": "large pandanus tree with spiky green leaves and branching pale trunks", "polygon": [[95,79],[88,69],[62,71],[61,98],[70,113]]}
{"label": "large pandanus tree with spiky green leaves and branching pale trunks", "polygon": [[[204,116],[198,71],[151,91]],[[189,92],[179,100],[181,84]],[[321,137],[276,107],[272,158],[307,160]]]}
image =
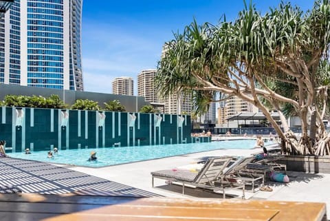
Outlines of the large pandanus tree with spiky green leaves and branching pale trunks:
{"label": "large pandanus tree with spiky green leaves and branching pale trunks", "polygon": [[[281,137],[287,154],[330,154],[322,123],[327,108],[330,3],[303,12],[281,3],[261,15],[252,3],[233,22],[194,21],[167,44],[155,81],[161,96],[190,92],[195,111],[205,112],[215,94],[237,96],[258,107]],[[281,127],[270,111],[276,110]],[[285,114],[301,120],[300,140]],[[308,133],[309,131],[309,133]]]}

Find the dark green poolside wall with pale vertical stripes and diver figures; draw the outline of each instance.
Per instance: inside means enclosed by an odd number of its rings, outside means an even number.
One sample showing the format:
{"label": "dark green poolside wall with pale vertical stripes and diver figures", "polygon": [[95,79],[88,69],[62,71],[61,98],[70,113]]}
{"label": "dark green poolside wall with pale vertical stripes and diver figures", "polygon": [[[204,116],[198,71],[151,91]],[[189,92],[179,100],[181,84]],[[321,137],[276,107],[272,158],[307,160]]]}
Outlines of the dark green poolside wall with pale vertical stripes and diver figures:
{"label": "dark green poolside wall with pale vertical stripes and diver figures", "polygon": [[[23,118],[18,117],[20,110]],[[129,114],[136,117],[132,127]],[[155,127],[155,114],[0,107],[0,140],[12,151],[195,143],[190,137],[190,116],[183,116],[182,127],[177,125],[177,115],[160,116],[160,126]]]}

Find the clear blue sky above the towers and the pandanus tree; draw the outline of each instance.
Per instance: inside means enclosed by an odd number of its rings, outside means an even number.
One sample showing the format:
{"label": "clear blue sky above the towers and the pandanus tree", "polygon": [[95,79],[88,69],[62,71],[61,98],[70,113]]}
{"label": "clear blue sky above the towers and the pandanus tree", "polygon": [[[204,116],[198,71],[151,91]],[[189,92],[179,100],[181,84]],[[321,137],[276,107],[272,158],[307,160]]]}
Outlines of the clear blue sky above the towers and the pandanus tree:
{"label": "clear blue sky above the towers and the pandanus tree", "polygon": [[[249,1],[248,1],[249,2]],[[254,0],[262,13],[278,0]],[[303,10],[312,0],[294,0]],[[111,93],[118,76],[131,76],[137,95],[137,74],[157,67],[162,45],[195,18],[217,24],[223,14],[233,21],[243,0],[83,0],[82,52],[85,91]]]}

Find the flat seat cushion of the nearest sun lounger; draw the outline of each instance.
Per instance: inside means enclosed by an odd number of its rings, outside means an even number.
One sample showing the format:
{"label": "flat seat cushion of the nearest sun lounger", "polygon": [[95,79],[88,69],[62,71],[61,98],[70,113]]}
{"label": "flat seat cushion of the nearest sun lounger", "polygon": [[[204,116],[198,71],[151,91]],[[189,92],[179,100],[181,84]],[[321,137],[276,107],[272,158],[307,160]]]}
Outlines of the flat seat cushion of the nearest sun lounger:
{"label": "flat seat cushion of the nearest sun lounger", "polygon": [[163,176],[173,178],[178,181],[193,182],[198,175],[196,172],[179,170],[179,169],[164,169],[151,172],[153,176]]}

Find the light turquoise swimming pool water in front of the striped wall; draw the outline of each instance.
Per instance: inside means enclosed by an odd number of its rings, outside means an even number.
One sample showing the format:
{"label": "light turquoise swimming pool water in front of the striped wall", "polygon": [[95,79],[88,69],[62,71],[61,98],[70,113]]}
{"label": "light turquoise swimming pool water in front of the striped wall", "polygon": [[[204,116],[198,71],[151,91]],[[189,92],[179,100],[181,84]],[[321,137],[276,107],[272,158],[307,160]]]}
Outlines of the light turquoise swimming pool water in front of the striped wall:
{"label": "light turquoise swimming pool water in front of the striped wall", "polygon": [[[12,153],[13,158],[38,160],[41,162],[77,165],[84,167],[104,167],[141,160],[151,160],[169,156],[210,151],[214,149],[251,149],[256,140],[225,140],[211,143],[191,143],[181,145],[154,145],[140,147],[107,147],[98,149],[59,150],[54,158],[47,158],[47,151],[35,151],[32,154]],[[97,161],[87,161],[91,151],[96,151]]]}

